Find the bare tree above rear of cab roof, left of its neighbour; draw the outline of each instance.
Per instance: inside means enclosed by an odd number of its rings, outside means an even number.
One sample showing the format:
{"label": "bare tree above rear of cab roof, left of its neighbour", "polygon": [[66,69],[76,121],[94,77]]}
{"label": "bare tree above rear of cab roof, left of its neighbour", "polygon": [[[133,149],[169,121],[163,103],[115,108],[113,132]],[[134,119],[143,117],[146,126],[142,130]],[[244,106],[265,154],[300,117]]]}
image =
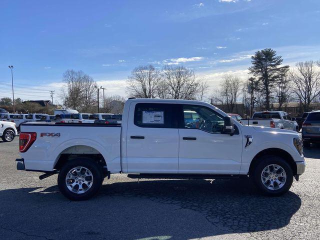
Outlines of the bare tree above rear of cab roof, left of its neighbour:
{"label": "bare tree above rear of cab roof, left of its neighbour", "polygon": [[135,67],[127,79],[127,93],[134,97],[154,98],[160,79],[161,71],[152,65]]}

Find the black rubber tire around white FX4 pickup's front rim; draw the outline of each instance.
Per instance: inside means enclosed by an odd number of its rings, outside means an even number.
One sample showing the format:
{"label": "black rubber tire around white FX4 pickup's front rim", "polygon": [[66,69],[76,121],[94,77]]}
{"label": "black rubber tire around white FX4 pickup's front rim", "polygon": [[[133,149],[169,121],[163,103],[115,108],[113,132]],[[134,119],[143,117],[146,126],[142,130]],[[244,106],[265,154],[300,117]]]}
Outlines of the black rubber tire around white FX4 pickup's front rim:
{"label": "black rubber tire around white FX4 pickup's front rim", "polygon": [[[279,195],[284,194],[285,192],[287,192],[290,189],[290,187],[292,185],[292,181],[293,181],[293,171],[292,171],[290,165],[283,158],[281,158],[279,156],[274,156],[274,155],[265,155],[265,156],[260,157],[258,159],[258,161],[259,162],[256,164],[256,166],[252,170],[252,180],[261,193],[263,193],[265,195],[269,195],[269,196],[279,196]],[[268,189],[263,184],[262,179],[261,179],[261,174],[262,174],[263,169],[265,169],[270,164],[279,165],[280,167],[282,167],[284,169],[284,171],[286,173],[285,182],[278,189]]]}

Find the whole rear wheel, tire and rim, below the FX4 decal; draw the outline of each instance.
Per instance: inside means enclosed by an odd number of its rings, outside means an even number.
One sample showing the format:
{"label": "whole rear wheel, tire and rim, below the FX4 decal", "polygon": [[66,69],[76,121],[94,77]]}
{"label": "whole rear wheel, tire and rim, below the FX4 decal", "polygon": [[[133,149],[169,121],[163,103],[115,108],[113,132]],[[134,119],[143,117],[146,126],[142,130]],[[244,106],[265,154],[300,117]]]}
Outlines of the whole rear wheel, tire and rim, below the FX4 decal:
{"label": "whole rear wheel, tire and rim, below the FX4 decal", "polygon": [[92,197],[103,181],[101,167],[88,158],[67,162],[58,174],[58,187],[70,200],[86,200]]}

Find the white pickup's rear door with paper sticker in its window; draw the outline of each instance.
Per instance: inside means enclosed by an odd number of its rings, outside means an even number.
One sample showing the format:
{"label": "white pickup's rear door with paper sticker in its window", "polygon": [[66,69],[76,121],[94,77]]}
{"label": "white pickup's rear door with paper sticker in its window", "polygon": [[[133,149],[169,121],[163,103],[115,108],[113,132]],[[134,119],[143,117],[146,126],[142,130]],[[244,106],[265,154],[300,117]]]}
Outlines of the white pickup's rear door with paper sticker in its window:
{"label": "white pickup's rear door with paper sticker in its window", "polygon": [[175,103],[131,103],[126,132],[127,172],[177,173],[176,112]]}

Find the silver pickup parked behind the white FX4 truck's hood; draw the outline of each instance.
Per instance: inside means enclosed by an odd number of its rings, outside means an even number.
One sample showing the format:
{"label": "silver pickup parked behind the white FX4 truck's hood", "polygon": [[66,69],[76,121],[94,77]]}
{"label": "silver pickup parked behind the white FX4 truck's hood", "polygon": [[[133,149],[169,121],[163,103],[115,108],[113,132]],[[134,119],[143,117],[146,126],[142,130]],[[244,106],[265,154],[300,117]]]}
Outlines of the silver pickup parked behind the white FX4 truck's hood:
{"label": "silver pickup parked behind the white FX4 truck's hood", "polygon": [[289,114],[284,111],[257,111],[254,112],[251,119],[242,119],[241,122],[253,126],[299,131],[298,123],[292,120]]}

